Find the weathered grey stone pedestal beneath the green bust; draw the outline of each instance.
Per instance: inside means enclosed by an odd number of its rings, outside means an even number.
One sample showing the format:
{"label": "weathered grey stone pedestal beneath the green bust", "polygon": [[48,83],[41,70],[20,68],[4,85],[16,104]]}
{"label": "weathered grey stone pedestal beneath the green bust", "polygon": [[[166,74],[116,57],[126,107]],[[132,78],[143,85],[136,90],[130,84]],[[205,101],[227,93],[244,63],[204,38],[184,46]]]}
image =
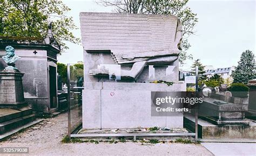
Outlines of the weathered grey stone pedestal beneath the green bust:
{"label": "weathered grey stone pedestal beneath the green bust", "polygon": [[27,103],[24,100],[23,73],[18,70],[0,72],[0,108],[16,108]]}

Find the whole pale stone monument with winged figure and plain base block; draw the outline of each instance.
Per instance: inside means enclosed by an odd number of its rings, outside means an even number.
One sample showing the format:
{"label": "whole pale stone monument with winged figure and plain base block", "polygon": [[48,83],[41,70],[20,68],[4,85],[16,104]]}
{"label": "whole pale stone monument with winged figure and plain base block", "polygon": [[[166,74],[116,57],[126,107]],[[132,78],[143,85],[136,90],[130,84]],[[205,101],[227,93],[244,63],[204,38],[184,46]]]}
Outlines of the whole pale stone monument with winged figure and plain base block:
{"label": "whole pale stone monument with winged figure and plain base block", "polygon": [[83,128],[183,127],[182,116],[151,116],[152,91],[186,91],[176,16],[81,12],[80,25]]}

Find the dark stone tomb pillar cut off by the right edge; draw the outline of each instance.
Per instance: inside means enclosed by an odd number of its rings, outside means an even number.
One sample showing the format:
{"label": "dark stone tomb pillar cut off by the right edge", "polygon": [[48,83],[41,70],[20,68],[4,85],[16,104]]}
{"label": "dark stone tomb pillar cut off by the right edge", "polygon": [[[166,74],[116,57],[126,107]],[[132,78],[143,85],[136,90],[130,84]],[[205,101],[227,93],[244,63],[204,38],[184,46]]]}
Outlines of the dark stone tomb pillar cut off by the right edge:
{"label": "dark stone tomb pillar cut off by the right edge", "polygon": [[256,79],[249,80],[248,87],[250,87],[249,105],[245,115],[247,118],[256,120]]}

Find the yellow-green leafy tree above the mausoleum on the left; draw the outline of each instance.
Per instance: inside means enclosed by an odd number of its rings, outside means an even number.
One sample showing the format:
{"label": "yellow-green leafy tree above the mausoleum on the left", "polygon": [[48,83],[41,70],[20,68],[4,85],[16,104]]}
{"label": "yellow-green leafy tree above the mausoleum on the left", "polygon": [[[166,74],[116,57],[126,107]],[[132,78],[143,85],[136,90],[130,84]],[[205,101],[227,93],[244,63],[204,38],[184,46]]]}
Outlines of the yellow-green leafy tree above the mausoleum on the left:
{"label": "yellow-green leafy tree above the mausoleum on the left", "polygon": [[0,36],[43,39],[47,35],[48,23],[52,22],[52,33],[62,50],[68,49],[65,41],[79,43],[70,30],[77,29],[70,10],[62,1],[48,0],[0,0]]}

